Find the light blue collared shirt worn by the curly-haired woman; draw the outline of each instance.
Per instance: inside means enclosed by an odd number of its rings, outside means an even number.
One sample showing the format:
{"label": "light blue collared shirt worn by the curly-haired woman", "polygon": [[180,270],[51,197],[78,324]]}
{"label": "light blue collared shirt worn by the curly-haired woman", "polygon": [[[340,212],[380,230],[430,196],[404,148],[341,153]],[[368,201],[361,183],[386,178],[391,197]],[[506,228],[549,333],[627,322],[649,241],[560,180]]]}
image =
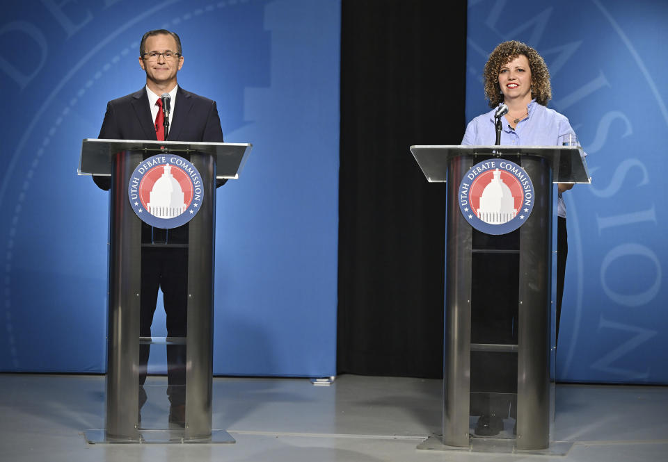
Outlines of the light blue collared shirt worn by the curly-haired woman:
{"label": "light blue collared shirt worn by the curly-haired woman", "polygon": [[[475,117],[466,127],[466,133],[461,140],[462,145],[493,146],[496,141],[494,126],[494,112],[492,109]],[[565,115],[556,110],[546,108],[532,100],[527,106],[528,115],[511,128],[505,117],[502,118],[501,145],[502,146],[556,146],[559,145],[559,136],[575,133]],[[562,195],[557,197],[557,215],[566,217],[566,204]]]}

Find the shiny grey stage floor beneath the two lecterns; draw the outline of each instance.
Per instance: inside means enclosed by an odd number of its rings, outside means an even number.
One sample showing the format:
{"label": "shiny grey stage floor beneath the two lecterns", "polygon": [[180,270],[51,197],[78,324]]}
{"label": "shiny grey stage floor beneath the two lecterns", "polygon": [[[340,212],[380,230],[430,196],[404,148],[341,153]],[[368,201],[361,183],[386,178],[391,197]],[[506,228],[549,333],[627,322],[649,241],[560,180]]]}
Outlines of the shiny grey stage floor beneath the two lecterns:
{"label": "shiny grey stage floor beneath the two lecterns", "polygon": [[[534,456],[417,450],[440,434],[441,386],[354,375],[331,386],[216,378],[213,427],[237,443],[89,445],[84,431],[104,425],[103,376],[0,374],[0,461],[668,460],[668,387],[557,386],[552,440],[573,445],[566,456]],[[164,415],[147,406],[144,414]]]}

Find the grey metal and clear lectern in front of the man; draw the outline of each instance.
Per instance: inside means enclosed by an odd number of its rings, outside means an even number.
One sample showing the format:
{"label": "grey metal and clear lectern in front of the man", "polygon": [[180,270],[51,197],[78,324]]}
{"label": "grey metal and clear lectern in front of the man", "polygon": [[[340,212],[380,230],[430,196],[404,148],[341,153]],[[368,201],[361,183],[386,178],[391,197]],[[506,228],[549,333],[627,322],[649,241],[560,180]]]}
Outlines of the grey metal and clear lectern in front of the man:
{"label": "grey metal and clear lectern in front of the man", "polygon": [[[226,431],[212,431],[215,192],[216,179],[239,177],[250,149],[237,143],[84,140],[79,174],[111,178],[106,418],[104,430],[86,431],[90,443],[234,443]],[[202,176],[201,207],[187,226],[188,243],[180,246],[187,249],[185,337],[141,337],[139,329],[143,247],[160,244],[143,242],[128,184],[144,158],[160,153],[189,158]],[[139,404],[140,351],[158,344],[185,349],[184,424],[148,429]]]}

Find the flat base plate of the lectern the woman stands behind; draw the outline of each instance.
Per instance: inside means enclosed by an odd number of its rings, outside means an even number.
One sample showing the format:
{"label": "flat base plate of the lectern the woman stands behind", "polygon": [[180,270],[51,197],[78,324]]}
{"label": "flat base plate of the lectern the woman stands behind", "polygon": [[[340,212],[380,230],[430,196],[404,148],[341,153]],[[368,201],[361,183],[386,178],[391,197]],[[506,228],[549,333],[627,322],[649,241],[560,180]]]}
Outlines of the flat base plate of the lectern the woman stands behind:
{"label": "flat base plate of the lectern the woman stands behind", "polygon": [[501,454],[536,454],[541,456],[565,456],[573,447],[572,441],[551,441],[547,449],[517,449],[516,440],[504,438],[469,438],[468,447],[447,446],[443,444],[443,436],[432,435],[417,445],[420,451],[466,451],[466,452],[498,452]]}

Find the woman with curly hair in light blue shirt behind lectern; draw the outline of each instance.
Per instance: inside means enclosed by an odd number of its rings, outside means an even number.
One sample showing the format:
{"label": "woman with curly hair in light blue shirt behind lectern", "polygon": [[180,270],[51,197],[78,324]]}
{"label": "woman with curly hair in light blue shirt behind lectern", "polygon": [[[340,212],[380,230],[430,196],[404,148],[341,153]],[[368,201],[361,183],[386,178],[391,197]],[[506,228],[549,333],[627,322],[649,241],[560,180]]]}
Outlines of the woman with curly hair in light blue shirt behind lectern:
{"label": "woman with curly hair in light blue shirt behind lectern", "polygon": [[[484,68],[484,90],[489,106],[493,109],[472,119],[466,127],[462,145],[490,146],[495,144],[494,115],[502,103],[508,106],[508,112],[502,116],[500,145],[553,146],[560,144],[559,137],[562,135],[573,133],[571,124],[564,115],[546,107],[552,97],[550,72],[539,53],[527,44],[511,40],[499,44],[492,51]],[[557,336],[564,292],[566,254],[568,253],[566,207],[562,193],[572,187],[573,185],[568,183],[558,185]],[[511,236],[499,236],[498,238],[517,239]],[[516,263],[508,264],[515,265]],[[488,270],[476,274],[477,278],[486,281],[489,281],[488,278],[498,279],[498,271],[494,269],[495,265],[487,266]],[[514,267],[508,268],[505,273],[512,272],[517,273]],[[516,308],[513,306],[514,302],[511,300],[507,304],[502,304],[498,300],[486,299],[483,296],[480,296],[480,302],[481,308],[472,313],[474,323],[472,342],[475,340],[475,343],[516,344],[517,315]],[[479,323],[478,327],[475,327],[476,323]],[[495,341],[484,338],[488,336],[493,337]],[[475,337],[479,338],[475,339]],[[485,356],[484,354],[480,354],[475,359],[472,358],[471,390],[488,392],[493,388],[498,390],[498,393],[517,393],[514,374],[499,372],[512,370],[516,367],[513,363],[512,358],[502,359],[499,356]],[[493,370],[499,373],[491,373],[490,371]],[[491,382],[495,382],[496,386],[491,386]],[[502,403],[501,406],[495,406],[494,399],[485,397],[484,393],[475,393],[474,396],[476,399],[471,401],[471,413],[480,415],[475,432],[486,436],[498,434],[503,428],[502,418],[508,415],[508,409],[511,409],[510,414],[514,415],[514,404]]]}

